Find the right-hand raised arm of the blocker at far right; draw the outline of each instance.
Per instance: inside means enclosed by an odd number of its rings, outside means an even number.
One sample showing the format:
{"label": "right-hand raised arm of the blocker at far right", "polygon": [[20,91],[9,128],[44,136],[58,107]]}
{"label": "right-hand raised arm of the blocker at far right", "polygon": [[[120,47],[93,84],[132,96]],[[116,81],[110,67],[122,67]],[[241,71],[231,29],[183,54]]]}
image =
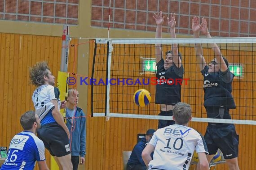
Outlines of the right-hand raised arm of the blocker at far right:
{"label": "right-hand raised arm of the blocker at far right", "polygon": [[[207,38],[212,38],[211,34],[208,31],[207,21],[205,18],[202,18],[202,30],[201,31],[204,35],[206,35]],[[221,49],[219,48],[219,46],[216,43],[211,43],[211,44],[209,44],[209,47],[211,47],[212,50],[214,51],[214,56],[217,60],[217,63],[220,64],[221,72],[227,71],[228,67],[225,64],[224,59],[222,58]]]}

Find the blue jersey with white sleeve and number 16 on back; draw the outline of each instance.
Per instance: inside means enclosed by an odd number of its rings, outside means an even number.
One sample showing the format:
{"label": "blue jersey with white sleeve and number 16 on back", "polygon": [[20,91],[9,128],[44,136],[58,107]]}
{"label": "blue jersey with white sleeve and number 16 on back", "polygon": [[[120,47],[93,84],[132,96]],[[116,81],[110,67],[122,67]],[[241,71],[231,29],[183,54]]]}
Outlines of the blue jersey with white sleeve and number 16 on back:
{"label": "blue jersey with white sleeve and number 16 on back", "polygon": [[35,161],[44,161],[44,143],[34,133],[23,131],[11,140],[1,170],[33,170]]}

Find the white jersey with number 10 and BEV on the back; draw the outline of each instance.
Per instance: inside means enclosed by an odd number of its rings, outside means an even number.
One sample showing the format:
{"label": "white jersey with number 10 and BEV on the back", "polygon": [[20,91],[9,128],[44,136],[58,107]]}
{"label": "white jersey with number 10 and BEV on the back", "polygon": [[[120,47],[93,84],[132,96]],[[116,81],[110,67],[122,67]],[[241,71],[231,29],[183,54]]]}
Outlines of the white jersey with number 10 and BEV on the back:
{"label": "white jersey with number 10 and BEV on the back", "polygon": [[209,154],[200,134],[179,124],[158,129],[148,144],[155,147],[149,170],[188,170],[194,150]]}

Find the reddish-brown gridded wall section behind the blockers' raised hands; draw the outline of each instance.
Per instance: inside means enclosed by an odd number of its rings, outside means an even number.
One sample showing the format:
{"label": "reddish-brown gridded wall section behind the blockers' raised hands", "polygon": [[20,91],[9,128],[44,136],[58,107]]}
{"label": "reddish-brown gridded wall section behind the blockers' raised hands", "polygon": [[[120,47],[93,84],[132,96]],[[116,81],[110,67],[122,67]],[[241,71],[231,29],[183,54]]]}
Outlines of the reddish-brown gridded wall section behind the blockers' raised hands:
{"label": "reddish-brown gridded wall section behind the blockers' raised hands", "polygon": [[[200,16],[212,36],[256,36],[256,0],[111,0],[110,28],[155,31],[152,16],[160,10],[177,14],[178,34],[192,34],[192,17]],[[92,0],[92,26],[108,27],[108,15],[109,0]]]}

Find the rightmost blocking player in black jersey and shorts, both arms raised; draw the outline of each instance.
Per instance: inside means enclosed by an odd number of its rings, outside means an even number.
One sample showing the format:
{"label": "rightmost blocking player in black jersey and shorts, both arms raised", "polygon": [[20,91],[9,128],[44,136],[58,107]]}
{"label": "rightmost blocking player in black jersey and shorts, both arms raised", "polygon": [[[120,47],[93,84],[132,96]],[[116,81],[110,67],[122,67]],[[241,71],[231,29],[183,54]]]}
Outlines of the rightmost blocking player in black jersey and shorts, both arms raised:
{"label": "rightmost blocking player in black jersey and shorts, both arms raised", "polygon": [[[202,18],[202,23],[199,24],[199,17],[194,17],[192,30],[194,38],[199,38],[200,31],[207,38],[212,38],[204,18]],[[231,95],[234,74],[230,72],[229,63],[222,56],[217,44],[208,44],[208,46],[212,47],[215,58],[207,65],[202,54],[201,44],[195,45],[196,61],[203,75],[203,105],[208,118],[231,119],[229,110],[236,107]],[[204,139],[209,152],[209,156],[207,156],[209,162],[220,148],[230,170],[239,170],[237,159],[238,135],[234,124],[208,123]]]}

